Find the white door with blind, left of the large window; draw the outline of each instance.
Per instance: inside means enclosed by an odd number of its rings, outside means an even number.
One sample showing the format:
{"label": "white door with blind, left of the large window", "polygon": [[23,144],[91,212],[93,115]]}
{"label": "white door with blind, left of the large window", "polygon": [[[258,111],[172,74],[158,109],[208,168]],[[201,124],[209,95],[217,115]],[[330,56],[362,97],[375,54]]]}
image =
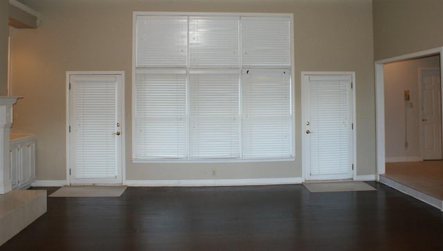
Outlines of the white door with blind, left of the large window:
{"label": "white door with blind, left of the large window", "polygon": [[122,75],[69,77],[69,181],[122,183]]}

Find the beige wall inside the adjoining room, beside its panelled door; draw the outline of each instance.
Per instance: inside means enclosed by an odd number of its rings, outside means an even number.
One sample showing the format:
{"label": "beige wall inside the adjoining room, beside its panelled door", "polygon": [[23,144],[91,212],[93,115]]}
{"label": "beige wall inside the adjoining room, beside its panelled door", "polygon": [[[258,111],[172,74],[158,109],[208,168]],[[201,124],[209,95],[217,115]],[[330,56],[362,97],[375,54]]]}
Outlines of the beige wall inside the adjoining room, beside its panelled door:
{"label": "beige wall inside the adjoining room, beside its panelled door", "polygon": [[[387,160],[389,158],[420,156],[419,68],[440,68],[440,55],[383,66]],[[408,102],[404,100],[405,90],[410,92]],[[408,148],[405,148],[404,143],[405,130],[407,131]]]}

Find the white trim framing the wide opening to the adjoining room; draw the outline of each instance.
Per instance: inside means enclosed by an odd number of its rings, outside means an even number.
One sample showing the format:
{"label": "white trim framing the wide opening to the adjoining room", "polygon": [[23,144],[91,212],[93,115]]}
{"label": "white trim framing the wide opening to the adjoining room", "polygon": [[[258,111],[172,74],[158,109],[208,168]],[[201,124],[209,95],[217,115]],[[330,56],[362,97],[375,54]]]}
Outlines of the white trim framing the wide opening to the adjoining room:
{"label": "white trim framing the wide opening to the adjoining room", "polygon": [[[443,75],[443,47],[432,48],[429,50],[422,50],[417,53],[410,53],[398,57],[390,57],[387,59],[380,59],[374,62],[375,69],[375,135],[376,135],[376,153],[377,153],[377,180],[380,174],[385,174],[386,171],[386,152],[385,152],[385,94],[384,94],[384,73],[383,65],[399,62],[408,59],[417,59],[419,57],[426,57],[440,54],[440,76]],[[441,89],[443,94],[443,88]],[[440,96],[442,97],[442,96]],[[443,102],[442,102],[443,107]],[[442,115],[443,120],[443,115]],[[443,133],[442,133],[443,136]]]}

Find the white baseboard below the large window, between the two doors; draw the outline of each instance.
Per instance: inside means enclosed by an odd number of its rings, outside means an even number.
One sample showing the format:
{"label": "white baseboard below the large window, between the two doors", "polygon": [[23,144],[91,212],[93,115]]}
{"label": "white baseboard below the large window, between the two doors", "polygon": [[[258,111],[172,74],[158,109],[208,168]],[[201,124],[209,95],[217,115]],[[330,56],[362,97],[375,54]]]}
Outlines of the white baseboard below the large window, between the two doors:
{"label": "white baseboard below the large window, between the two doors", "polygon": [[244,178],[224,180],[126,180],[123,185],[129,187],[210,187],[238,185],[284,185],[300,184],[298,178]]}

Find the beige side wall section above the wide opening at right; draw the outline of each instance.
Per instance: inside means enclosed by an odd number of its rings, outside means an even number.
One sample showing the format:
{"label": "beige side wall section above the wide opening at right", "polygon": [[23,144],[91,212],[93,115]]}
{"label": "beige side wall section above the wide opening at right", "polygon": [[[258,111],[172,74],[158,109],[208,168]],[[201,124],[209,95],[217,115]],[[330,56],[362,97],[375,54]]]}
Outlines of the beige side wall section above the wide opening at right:
{"label": "beige side wall section above the wide opening at right", "polygon": [[443,46],[442,0],[374,0],[374,57]]}

